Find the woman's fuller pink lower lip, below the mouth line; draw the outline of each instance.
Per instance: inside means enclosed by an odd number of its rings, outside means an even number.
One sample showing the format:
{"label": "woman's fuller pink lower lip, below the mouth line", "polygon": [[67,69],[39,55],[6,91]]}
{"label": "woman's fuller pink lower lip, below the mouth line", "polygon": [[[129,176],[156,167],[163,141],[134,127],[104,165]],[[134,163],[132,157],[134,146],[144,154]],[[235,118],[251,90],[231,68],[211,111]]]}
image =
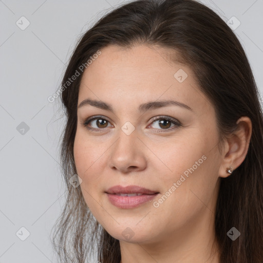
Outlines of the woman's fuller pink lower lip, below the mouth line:
{"label": "woman's fuller pink lower lip, below the mouth line", "polygon": [[154,195],[137,195],[137,196],[120,196],[116,194],[107,194],[109,201],[118,208],[130,209],[136,208],[142,203],[154,199],[158,194]]}

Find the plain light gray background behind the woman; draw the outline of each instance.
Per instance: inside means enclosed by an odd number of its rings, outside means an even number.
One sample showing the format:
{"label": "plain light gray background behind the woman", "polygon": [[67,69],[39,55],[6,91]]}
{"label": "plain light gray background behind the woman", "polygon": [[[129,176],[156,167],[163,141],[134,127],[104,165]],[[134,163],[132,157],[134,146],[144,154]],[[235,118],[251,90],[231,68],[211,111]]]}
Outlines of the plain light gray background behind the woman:
{"label": "plain light gray background behind the woman", "polygon": [[[65,118],[59,99],[47,98],[59,88],[77,39],[122,2],[0,0],[0,263],[55,262],[50,231],[65,199],[58,161]],[[263,95],[263,0],[202,3],[226,22],[240,21],[235,33]],[[30,22],[24,30],[21,16]],[[30,232],[24,241],[22,227]]]}

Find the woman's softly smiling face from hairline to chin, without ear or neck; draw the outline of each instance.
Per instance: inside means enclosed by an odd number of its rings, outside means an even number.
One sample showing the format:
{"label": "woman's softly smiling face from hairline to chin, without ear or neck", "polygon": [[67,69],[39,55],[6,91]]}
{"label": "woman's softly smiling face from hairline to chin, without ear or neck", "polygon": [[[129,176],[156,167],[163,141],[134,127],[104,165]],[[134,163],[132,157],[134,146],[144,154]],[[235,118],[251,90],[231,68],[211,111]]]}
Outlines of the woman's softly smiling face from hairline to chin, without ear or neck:
{"label": "woman's softly smiling face from hairline to chin, without ear or neck", "polygon": [[[168,51],[108,46],[80,85],[78,105],[97,101],[78,108],[74,160],[81,191],[93,216],[122,241],[182,238],[214,220],[221,162],[215,110],[191,69],[168,60]],[[115,185],[158,194],[107,194]]]}

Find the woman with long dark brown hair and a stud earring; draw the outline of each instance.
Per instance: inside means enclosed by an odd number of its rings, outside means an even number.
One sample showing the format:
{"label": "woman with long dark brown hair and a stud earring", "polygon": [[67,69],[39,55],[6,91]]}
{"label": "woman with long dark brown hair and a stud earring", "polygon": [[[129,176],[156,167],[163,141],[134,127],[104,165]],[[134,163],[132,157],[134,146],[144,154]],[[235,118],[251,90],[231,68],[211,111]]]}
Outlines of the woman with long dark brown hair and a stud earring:
{"label": "woman with long dark brown hair and a stud earring", "polygon": [[61,262],[263,262],[259,93],[217,14],[125,4],[82,36],[62,87]]}

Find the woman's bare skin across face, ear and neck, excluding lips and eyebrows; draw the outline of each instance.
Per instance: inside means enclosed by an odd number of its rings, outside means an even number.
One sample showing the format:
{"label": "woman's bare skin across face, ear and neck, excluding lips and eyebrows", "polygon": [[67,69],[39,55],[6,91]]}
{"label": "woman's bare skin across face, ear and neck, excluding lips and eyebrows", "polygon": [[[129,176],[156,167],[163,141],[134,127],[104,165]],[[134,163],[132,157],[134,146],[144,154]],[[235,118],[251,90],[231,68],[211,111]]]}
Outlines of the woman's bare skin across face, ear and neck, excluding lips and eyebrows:
{"label": "woman's bare skin across face, ear and neck, excluding lips and eyebrows", "polygon": [[[171,50],[136,45],[101,51],[84,71],[78,105],[87,98],[101,100],[111,104],[114,113],[91,105],[80,107],[74,141],[80,187],[91,213],[119,239],[121,263],[218,263],[213,241],[220,177],[229,176],[226,168],[232,165],[235,170],[245,159],[250,119],[238,120],[240,128],[224,141],[220,155],[213,104],[200,91],[190,67],[170,61]],[[174,77],[179,69],[187,73],[182,83]],[[172,99],[192,110],[175,105],[144,113],[137,110],[142,103]],[[96,115],[108,121],[89,123],[100,132],[81,125]],[[158,116],[170,116],[181,126],[170,121],[161,125],[153,120]],[[135,127],[130,135],[121,129],[127,121]],[[206,159],[156,208],[153,203],[202,156]],[[120,209],[105,194],[118,184],[139,185],[160,194],[137,208]],[[127,227],[134,234],[130,239],[122,235]]]}

